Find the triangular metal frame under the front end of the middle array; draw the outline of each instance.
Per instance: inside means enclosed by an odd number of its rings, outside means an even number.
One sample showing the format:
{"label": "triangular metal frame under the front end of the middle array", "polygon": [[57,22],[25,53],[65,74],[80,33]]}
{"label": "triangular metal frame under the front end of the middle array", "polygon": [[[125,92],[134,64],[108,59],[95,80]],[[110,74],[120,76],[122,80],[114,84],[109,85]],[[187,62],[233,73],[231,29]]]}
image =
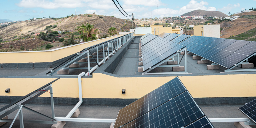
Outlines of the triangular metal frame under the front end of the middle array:
{"label": "triangular metal frame under the front end of the middle array", "polygon": [[[185,52],[185,71],[184,72],[159,72],[159,73],[149,73],[149,71],[151,71],[152,69],[156,68],[156,67],[180,67],[180,65],[161,65],[164,62],[168,62],[171,58],[173,58],[174,56],[179,56],[179,53],[181,52]],[[179,64],[179,63],[178,63]],[[143,66],[142,66],[143,68]],[[159,62],[158,64],[150,67],[149,69],[147,69],[146,71],[144,71],[142,73],[142,75],[160,75],[160,74],[188,74],[187,72],[187,48],[182,48],[179,52],[176,52],[173,55],[170,55],[169,57],[167,57],[166,59],[162,60],[161,62]]]}

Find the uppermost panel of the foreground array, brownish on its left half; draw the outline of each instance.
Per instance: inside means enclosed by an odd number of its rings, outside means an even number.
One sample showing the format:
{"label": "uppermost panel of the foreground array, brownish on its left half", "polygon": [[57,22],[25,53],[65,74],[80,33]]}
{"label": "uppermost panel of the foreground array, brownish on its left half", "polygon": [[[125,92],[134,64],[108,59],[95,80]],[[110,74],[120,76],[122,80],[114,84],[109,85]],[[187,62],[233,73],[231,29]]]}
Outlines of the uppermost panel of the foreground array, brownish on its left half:
{"label": "uppermost panel of the foreground array, brownish on its left half", "polygon": [[119,128],[120,126],[131,122],[186,90],[187,89],[178,77],[172,79],[154,91],[119,110],[114,128]]}

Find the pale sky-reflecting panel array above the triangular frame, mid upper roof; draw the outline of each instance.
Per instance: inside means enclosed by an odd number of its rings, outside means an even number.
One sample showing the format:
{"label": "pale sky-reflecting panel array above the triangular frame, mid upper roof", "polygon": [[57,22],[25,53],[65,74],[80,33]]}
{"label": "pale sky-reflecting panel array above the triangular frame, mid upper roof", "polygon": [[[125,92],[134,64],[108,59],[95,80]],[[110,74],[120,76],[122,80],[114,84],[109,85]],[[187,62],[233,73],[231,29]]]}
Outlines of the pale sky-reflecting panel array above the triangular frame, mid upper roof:
{"label": "pale sky-reflecting panel array above the triangular frame, mid upper roof", "polygon": [[154,40],[142,46],[143,71],[165,60],[185,46],[156,37]]}

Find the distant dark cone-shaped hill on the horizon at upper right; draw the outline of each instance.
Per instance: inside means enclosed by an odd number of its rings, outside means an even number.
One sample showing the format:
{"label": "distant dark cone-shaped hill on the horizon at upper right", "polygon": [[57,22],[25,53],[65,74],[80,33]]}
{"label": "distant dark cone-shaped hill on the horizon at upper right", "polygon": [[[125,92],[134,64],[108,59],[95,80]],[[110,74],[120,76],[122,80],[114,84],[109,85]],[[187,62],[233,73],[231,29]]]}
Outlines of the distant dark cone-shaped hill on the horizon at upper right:
{"label": "distant dark cone-shaped hill on the horizon at upper right", "polygon": [[203,16],[203,15],[207,15],[207,16],[217,16],[217,17],[223,17],[223,16],[228,16],[220,11],[205,11],[205,10],[194,10],[188,13],[185,13],[181,16]]}

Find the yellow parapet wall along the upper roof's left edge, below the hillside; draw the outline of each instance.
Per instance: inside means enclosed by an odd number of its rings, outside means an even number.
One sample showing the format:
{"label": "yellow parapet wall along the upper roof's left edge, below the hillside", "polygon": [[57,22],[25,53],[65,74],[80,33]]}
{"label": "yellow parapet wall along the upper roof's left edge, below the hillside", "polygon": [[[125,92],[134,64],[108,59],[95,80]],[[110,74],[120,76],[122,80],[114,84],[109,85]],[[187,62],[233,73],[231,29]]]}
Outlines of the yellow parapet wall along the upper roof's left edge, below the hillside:
{"label": "yellow parapet wall along the upper roof's left edge, below the hillside", "polygon": [[[131,33],[131,32],[130,32]],[[129,34],[129,33],[127,33]],[[125,34],[124,34],[125,35]],[[84,48],[120,37],[116,35],[104,39],[98,39],[81,44],[71,45],[48,51],[26,51],[26,52],[0,52],[0,63],[40,63],[53,62],[61,58],[77,53]]]}

